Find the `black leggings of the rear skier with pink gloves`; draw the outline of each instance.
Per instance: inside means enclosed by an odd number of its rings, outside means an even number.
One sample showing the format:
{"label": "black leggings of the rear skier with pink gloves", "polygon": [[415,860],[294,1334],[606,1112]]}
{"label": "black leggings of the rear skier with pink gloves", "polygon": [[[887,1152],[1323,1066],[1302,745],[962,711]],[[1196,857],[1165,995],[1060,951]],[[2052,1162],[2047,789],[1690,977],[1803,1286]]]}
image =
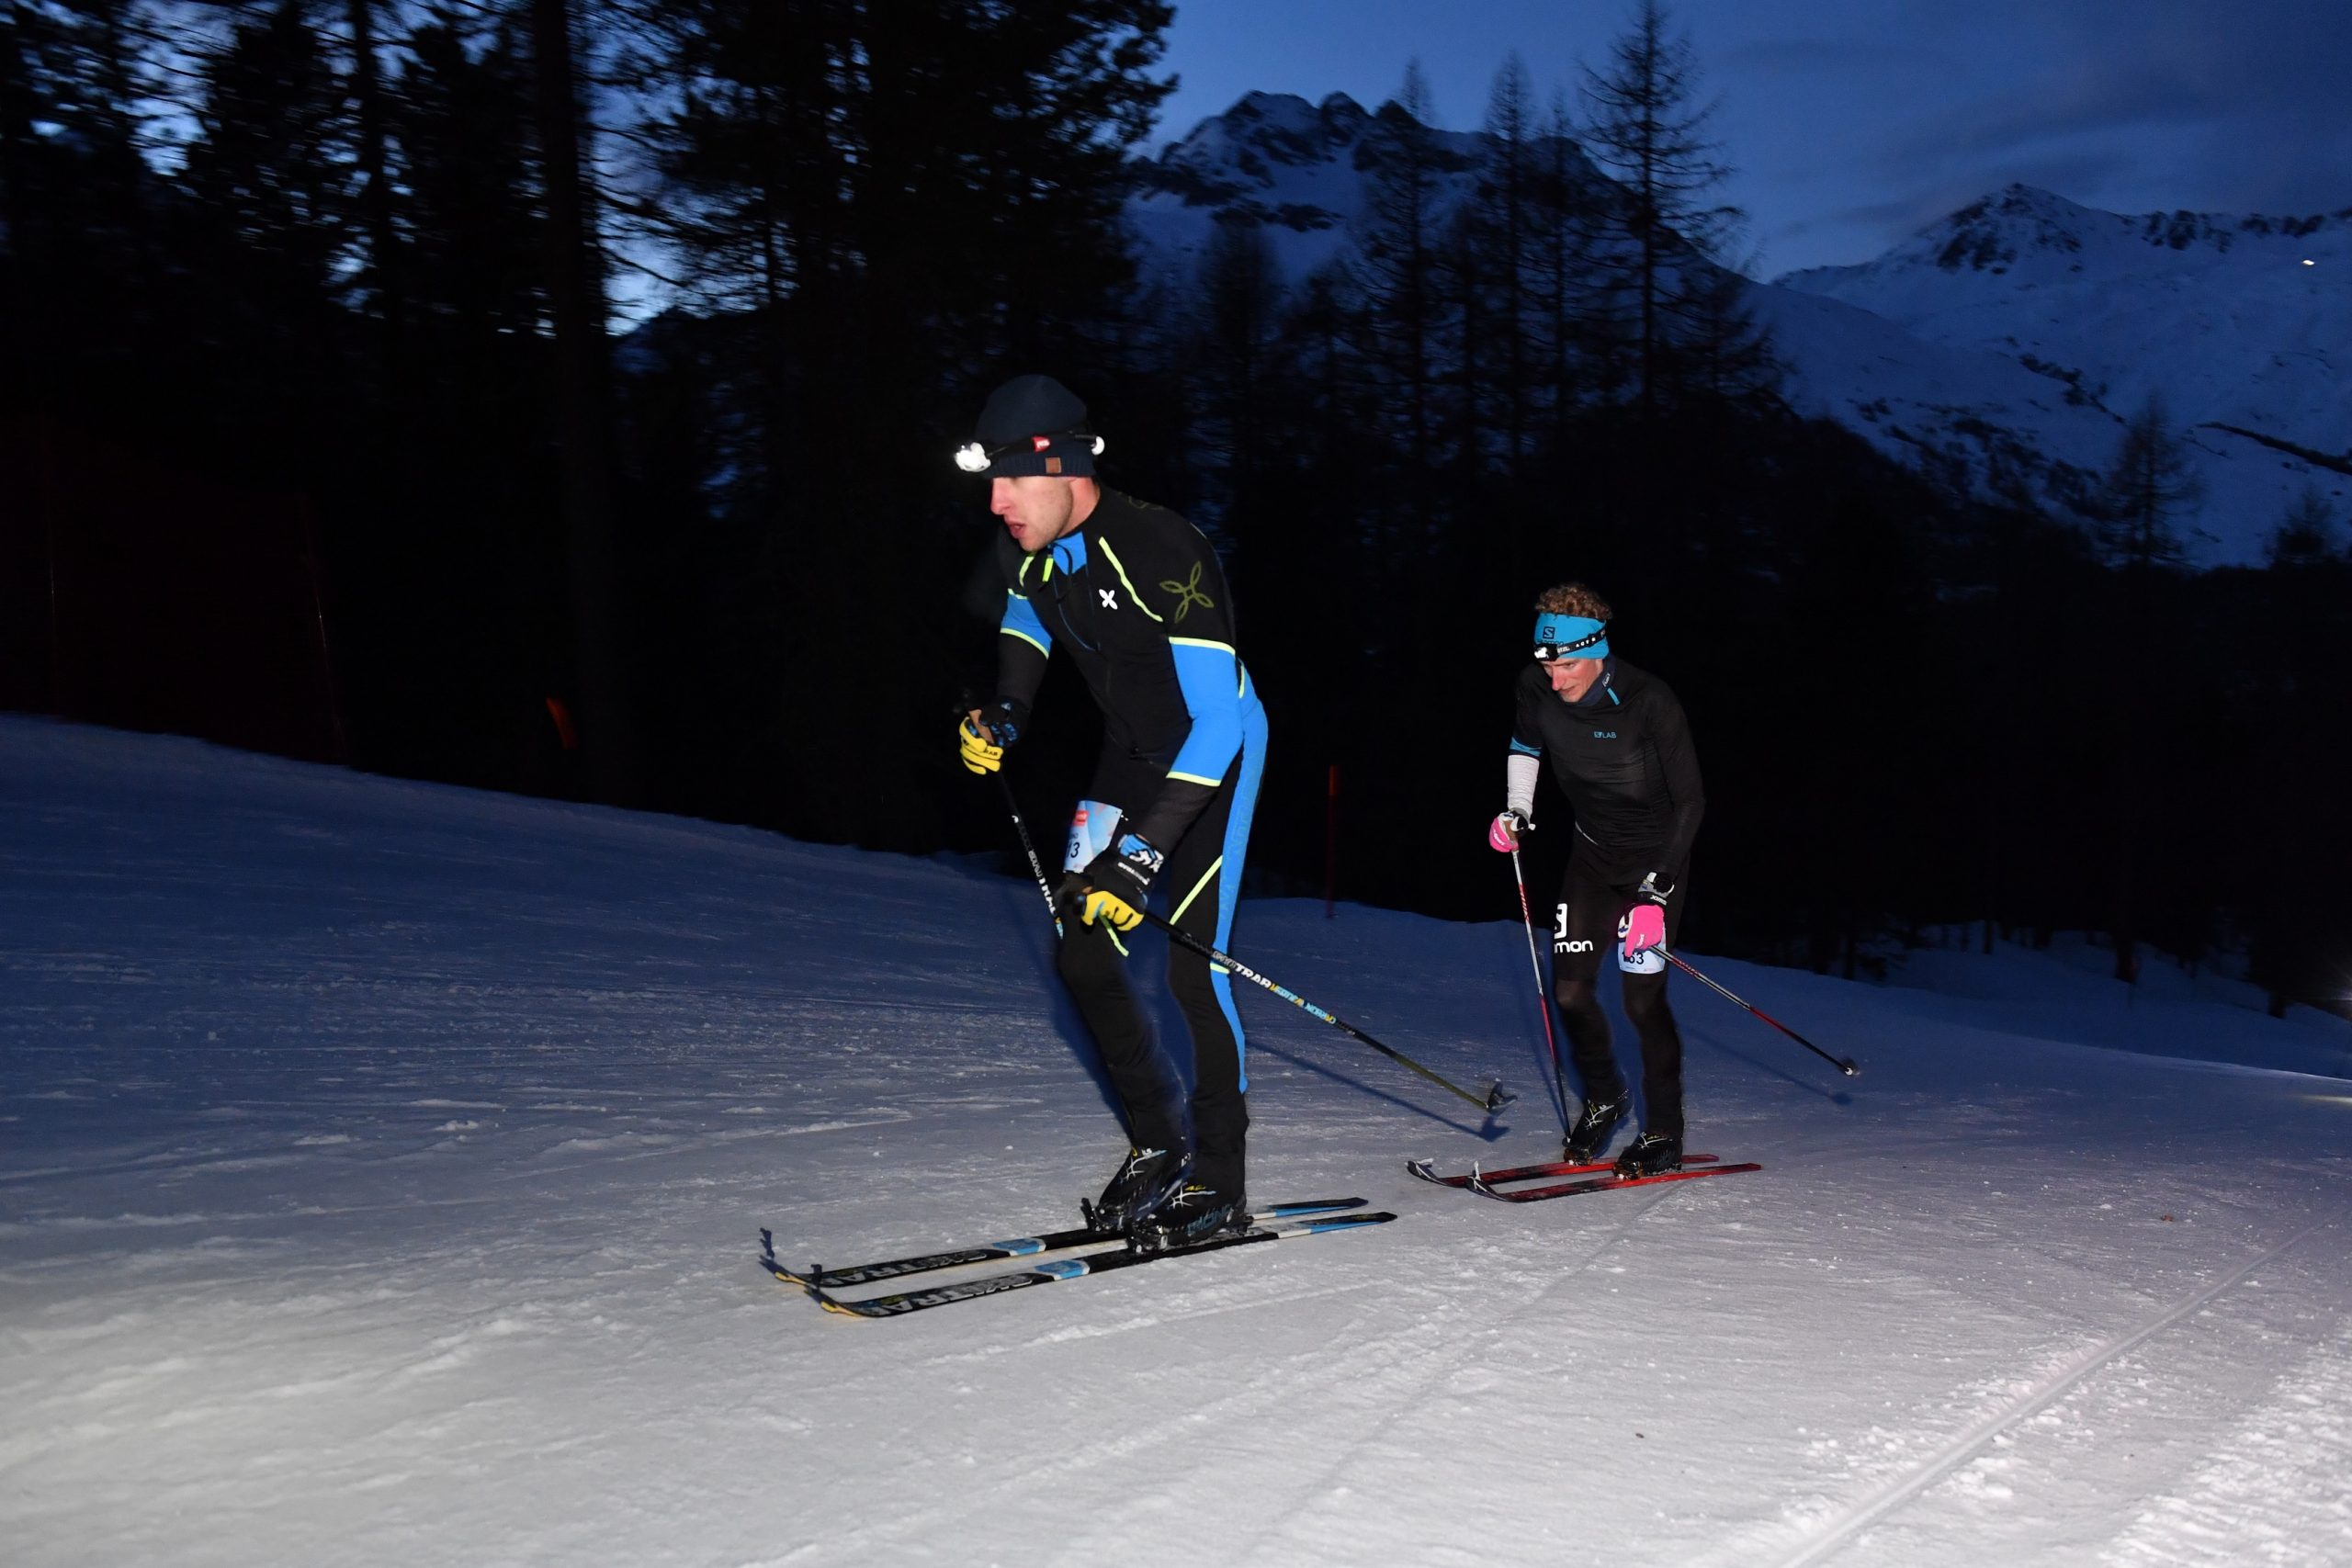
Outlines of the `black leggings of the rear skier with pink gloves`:
{"label": "black leggings of the rear skier with pink gloves", "polygon": [[[1644,872],[1611,872],[1588,853],[1583,839],[1569,856],[1552,910],[1552,994],[1569,1034],[1569,1060],[1585,1086],[1585,1100],[1616,1100],[1625,1074],[1609,1048],[1609,1016],[1602,1011],[1599,971],[1604,952],[1621,952],[1618,922],[1635,903]],[[1689,877],[1675,879],[1665,900],[1665,940],[1682,929]],[[1642,1131],[1682,1138],[1682,1030],[1665,1004],[1665,959],[1649,954],[1653,973],[1625,973],[1625,1018],[1642,1041]]]}

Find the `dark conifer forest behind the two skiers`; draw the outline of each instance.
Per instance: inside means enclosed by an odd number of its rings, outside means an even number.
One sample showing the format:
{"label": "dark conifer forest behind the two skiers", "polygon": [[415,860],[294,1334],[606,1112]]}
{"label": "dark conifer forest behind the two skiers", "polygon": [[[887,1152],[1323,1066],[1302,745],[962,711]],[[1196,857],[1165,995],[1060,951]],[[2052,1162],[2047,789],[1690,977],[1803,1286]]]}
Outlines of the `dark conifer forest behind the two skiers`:
{"label": "dark conifer forest behind the two skiers", "polygon": [[[953,741],[995,524],[950,451],[1035,369],[1108,484],[1225,552],[1272,724],[1256,893],[1324,891],[1336,769],[1341,898],[1508,919],[1510,682],[1581,578],[1691,715],[1693,947],[1853,973],[2082,929],[2124,980],[2343,1006],[2324,510],[2190,571],[2161,418],[2049,515],[1792,414],[1656,14],[1571,94],[1503,66],[1470,202],[1404,73],[1345,266],[1284,284],[1230,223],[1152,280],[1122,202],[1169,21],[0,7],[0,705],[997,853]],[[1051,679],[1040,820],[1091,745]]]}

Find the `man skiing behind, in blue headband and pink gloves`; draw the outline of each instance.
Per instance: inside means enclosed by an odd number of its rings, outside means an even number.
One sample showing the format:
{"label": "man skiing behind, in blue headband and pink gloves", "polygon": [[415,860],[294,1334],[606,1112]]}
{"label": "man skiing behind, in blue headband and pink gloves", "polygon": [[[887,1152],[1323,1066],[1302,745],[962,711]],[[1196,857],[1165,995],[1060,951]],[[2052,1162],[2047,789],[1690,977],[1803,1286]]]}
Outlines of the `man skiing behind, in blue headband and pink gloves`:
{"label": "man skiing behind, in blue headband and pink gloves", "polygon": [[1630,1107],[1595,994],[1606,943],[1625,971],[1625,1018],[1642,1037],[1642,1135],[1618,1154],[1616,1173],[1679,1171],[1682,1034],[1665,1004],[1665,957],[1653,950],[1682,926],[1691,839],[1708,806],[1691,726],[1665,682],[1609,654],[1609,604],[1583,583],[1536,599],[1536,663],[1519,672],[1517,701],[1505,809],[1486,842],[1510,853],[1536,825],[1545,757],[1576,809],[1552,917],[1552,990],[1585,1086],[1564,1154],[1599,1159]]}

